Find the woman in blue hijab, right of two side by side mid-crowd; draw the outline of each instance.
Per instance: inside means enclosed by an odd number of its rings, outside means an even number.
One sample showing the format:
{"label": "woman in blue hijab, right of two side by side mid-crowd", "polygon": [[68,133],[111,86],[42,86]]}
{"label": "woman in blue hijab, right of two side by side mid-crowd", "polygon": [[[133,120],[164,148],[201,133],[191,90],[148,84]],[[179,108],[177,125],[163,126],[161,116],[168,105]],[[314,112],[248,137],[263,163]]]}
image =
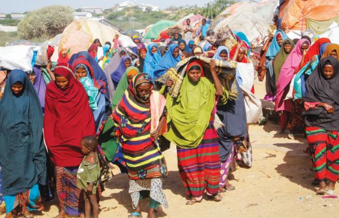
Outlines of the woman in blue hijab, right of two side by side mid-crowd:
{"label": "woman in blue hijab, right of two side by side mid-crowd", "polygon": [[154,69],[154,78],[164,75],[168,69],[174,67],[180,61],[179,46],[177,44],[170,44],[169,51],[166,52]]}

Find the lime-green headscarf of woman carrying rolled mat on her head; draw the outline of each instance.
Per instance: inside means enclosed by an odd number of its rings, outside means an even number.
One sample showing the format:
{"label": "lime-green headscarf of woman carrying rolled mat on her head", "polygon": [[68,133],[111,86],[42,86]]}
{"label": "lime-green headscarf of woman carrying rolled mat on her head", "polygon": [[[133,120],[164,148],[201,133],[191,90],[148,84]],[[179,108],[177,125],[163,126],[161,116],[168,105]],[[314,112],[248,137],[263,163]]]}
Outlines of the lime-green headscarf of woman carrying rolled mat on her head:
{"label": "lime-green headscarf of woman carrying rolled mat on her head", "polygon": [[[228,92],[219,103],[226,104]],[[169,131],[164,137],[181,148],[196,148],[209,125],[215,107],[216,88],[207,78],[200,78],[196,84],[186,74],[176,98],[167,95],[167,123]]]}

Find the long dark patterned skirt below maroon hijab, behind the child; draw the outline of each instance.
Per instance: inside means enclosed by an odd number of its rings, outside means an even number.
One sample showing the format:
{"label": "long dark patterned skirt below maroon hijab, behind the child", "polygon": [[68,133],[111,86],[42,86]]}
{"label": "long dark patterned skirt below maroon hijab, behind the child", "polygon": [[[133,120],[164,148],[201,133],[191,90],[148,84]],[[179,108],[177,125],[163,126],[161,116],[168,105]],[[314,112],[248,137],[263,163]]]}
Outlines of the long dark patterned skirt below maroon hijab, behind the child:
{"label": "long dark patterned skirt below maroon hijab, behind the child", "polygon": [[55,167],[57,195],[60,209],[70,216],[79,216],[84,211],[85,202],[77,187],[78,167]]}

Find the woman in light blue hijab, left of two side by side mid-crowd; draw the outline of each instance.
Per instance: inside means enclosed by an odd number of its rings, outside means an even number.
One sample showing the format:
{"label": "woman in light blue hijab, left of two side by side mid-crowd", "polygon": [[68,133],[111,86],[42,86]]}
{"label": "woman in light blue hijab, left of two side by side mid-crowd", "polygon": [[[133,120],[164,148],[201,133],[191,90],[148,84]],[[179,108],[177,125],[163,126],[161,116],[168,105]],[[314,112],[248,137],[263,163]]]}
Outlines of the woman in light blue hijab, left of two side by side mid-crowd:
{"label": "woman in light blue hijab, left of two side by side mid-crowd", "polygon": [[144,72],[154,78],[154,69],[161,59],[159,47],[155,43],[147,46],[147,54],[144,62]]}

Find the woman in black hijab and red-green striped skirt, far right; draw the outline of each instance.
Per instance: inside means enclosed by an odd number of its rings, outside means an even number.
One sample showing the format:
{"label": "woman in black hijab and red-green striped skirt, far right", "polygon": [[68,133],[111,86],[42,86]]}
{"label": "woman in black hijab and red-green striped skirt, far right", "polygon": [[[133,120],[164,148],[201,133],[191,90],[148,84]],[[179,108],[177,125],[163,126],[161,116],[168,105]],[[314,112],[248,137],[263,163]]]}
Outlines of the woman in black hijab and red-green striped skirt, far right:
{"label": "woman in black hijab and red-green striped skirt, far right", "polygon": [[314,176],[320,182],[317,194],[333,194],[339,173],[338,60],[322,59],[306,80],[306,89],[306,134]]}

